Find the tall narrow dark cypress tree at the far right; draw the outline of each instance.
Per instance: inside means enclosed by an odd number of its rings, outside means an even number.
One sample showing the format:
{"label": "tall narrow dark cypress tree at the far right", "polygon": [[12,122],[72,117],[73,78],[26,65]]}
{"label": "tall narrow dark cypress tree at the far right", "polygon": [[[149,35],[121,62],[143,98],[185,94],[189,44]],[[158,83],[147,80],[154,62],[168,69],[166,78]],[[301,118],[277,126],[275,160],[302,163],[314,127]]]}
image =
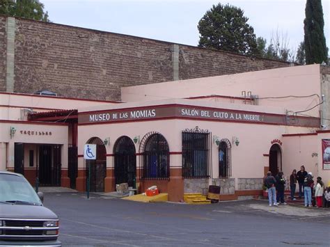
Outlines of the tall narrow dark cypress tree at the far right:
{"label": "tall narrow dark cypress tree at the far right", "polygon": [[327,63],[328,48],[324,37],[321,0],[307,0],[304,19],[306,64]]}

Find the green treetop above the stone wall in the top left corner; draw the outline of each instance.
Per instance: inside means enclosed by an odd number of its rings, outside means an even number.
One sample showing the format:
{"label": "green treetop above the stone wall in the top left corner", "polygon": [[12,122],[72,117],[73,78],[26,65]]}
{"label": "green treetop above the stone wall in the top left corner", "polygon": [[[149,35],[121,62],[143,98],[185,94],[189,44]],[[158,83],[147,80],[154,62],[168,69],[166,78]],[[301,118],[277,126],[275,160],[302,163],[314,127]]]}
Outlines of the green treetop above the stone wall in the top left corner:
{"label": "green treetop above the stone wall in the top left corner", "polygon": [[48,12],[38,0],[0,0],[0,14],[49,22]]}

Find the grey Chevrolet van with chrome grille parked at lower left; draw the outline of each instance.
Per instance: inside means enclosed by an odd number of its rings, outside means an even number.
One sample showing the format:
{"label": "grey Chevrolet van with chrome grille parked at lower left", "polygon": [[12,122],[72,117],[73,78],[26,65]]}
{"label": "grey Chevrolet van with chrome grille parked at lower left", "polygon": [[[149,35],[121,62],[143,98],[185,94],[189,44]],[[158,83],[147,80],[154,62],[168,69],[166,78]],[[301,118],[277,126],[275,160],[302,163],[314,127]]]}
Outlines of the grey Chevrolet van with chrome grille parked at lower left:
{"label": "grey Chevrolet van with chrome grille parked at lower left", "polygon": [[0,171],[0,246],[61,246],[58,217],[20,174]]}

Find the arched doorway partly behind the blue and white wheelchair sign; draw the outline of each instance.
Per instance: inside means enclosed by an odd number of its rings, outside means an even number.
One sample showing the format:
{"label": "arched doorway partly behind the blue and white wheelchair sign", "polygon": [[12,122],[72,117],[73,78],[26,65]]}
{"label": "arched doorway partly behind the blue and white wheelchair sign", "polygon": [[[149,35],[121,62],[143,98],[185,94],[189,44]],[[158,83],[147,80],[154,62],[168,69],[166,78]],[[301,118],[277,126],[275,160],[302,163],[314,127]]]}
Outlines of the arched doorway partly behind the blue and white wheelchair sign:
{"label": "arched doorway partly behind the blue and white wheelchair sign", "polygon": [[107,150],[98,137],[89,139],[88,144],[96,144],[96,159],[86,160],[86,174],[91,168],[91,192],[104,192],[104,178],[107,176]]}

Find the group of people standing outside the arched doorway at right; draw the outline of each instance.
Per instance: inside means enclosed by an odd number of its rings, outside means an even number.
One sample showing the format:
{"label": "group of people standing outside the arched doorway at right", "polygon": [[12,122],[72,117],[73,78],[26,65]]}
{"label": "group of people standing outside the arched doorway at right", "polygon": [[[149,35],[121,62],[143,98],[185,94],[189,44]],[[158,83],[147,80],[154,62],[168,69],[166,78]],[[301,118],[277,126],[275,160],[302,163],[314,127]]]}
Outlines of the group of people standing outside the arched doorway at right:
{"label": "group of people standing outside the arched doorway at right", "polygon": [[[312,197],[315,196],[316,207],[329,207],[330,204],[330,187],[324,189],[324,183],[322,177],[317,177],[316,182],[313,180],[313,174],[307,173],[304,166],[301,166],[297,173],[297,170],[293,170],[290,175],[290,196],[291,200],[297,200],[294,198],[296,191],[296,185],[299,185],[299,198],[304,196],[305,207],[313,207]],[[285,177],[283,172],[279,172],[276,177],[272,176],[269,171],[267,177],[265,177],[264,185],[268,189],[269,206],[278,206],[280,204],[286,205],[284,200],[285,191]]]}

